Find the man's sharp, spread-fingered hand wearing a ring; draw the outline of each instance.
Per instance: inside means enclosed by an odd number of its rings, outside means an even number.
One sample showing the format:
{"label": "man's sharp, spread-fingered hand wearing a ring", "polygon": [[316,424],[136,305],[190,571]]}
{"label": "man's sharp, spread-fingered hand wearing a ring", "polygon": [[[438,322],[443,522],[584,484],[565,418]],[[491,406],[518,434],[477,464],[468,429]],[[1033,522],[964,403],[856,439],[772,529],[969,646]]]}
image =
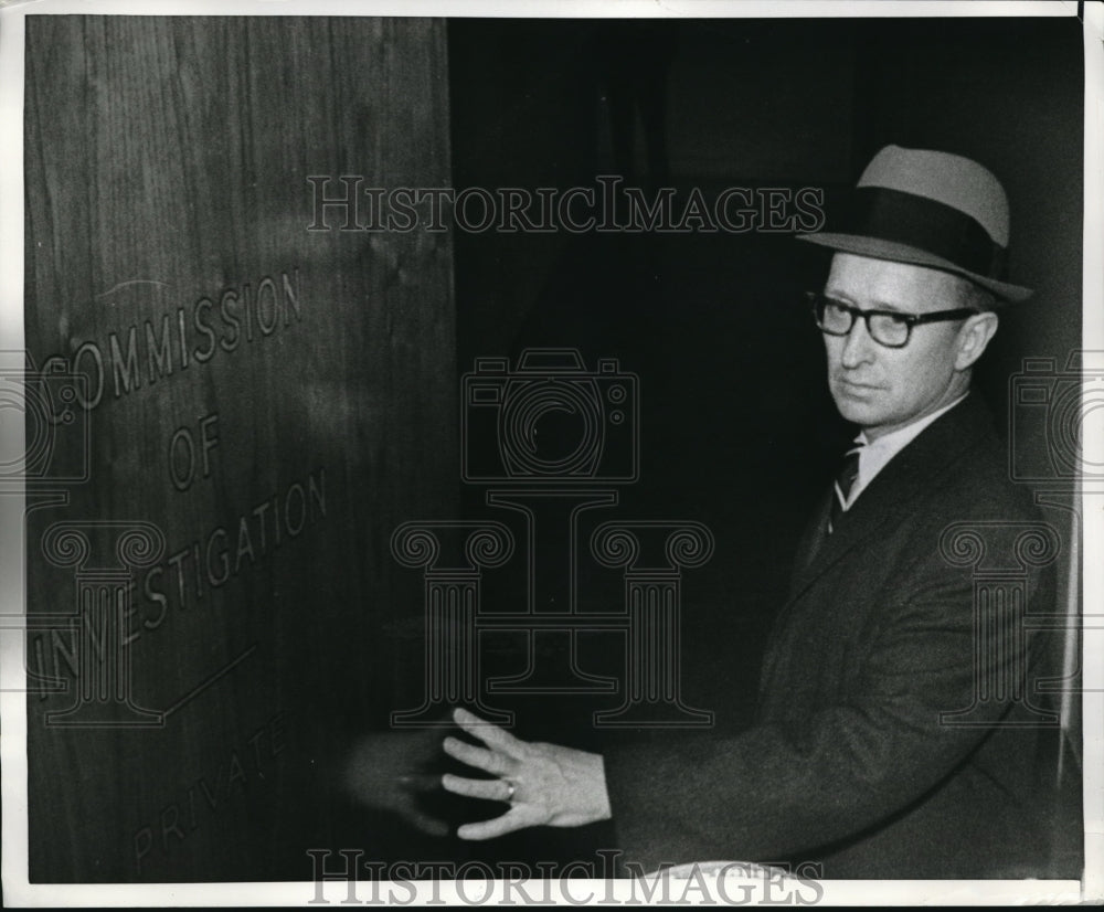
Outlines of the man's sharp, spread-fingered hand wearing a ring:
{"label": "man's sharp, spread-fingered hand wearing a ring", "polygon": [[457,709],[453,719],[487,746],[446,738],[445,753],[498,778],[468,780],[446,774],[440,784],[457,795],[510,804],[500,817],[460,827],[456,831],[460,839],[493,839],[526,827],[581,827],[609,819],[599,754],[519,741],[463,709]]}

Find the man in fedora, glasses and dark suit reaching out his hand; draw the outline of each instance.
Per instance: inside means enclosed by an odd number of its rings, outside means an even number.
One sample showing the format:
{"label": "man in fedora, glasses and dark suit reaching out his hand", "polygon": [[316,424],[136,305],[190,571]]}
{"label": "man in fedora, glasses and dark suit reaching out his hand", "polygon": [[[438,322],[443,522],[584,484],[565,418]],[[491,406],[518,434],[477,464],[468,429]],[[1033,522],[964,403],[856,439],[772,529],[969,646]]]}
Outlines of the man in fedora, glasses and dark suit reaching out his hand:
{"label": "man in fedora, glasses and dark suit reaching out his hand", "polygon": [[1057,547],[970,392],[996,308],[1031,294],[1000,279],[1008,229],[980,165],[878,153],[842,230],[804,238],[836,252],[814,315],[832,397],[860,434],[799,548],[755,724],[599,756],[457,710],[481,744],[449,738],[445,751],[496,778],[444,787],[510,804],[461,838],[612,817],[643,870],[729,858],[817,861],[826,878],[1045,872],[1036,764],[1054,720],[1023,689],[1039,656],[1009,606],[978,601],[966,553],[1000,560],[1021,554],[1017,537],[1045,540],[1026,592],[1051,609]]}

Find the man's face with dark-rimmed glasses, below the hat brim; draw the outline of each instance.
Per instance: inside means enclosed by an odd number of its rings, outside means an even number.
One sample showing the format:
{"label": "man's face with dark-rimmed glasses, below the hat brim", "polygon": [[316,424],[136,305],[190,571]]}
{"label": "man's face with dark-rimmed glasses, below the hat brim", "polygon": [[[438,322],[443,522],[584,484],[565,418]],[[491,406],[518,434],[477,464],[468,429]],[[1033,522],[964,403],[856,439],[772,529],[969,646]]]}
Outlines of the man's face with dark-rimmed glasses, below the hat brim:
{"label": "man's face with dark-rimmed glasses, below the hat brim", "polygon": [[[926,314],[959,307],[960,282],[924,266],[837,253],[825,295],[862,310]],[[969,384],[968,367],[956,369],[962,329],[962,321],[914,326],[899,349],[870,338],[862,319],[847,336],[826,335],[836,407],[875,438],[951,403]]]}

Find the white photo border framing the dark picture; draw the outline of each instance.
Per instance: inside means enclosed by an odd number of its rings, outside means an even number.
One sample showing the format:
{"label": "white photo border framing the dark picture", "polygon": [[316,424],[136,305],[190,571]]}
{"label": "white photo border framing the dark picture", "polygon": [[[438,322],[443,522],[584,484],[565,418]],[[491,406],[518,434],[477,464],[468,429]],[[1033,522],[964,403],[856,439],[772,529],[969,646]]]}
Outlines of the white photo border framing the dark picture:
{"label": "white photo border framing the dark picture", "polygon": [[[26,14],[153,15],[401,15],[510,18],[846,18],[846,17],[1074,17],[1083,15],[1085,64],[1084,237],[1082,348],[1104,350],[1104,4],[1089,2],[907,2],[906,0],[33,0],[0,2],[0,351],[23,349],[23,74]],[[22,444],[22,424],[0,427],[12,447]],[[1104,462],[1104,425],[1086,423],[1084,447]],[[1086,456],[1086,458],[1089,458]],[[1094,560],[1104,545],[1104,512],[1086,502],[1084,517],[1084,613],[1104,602],[1104,562]],[[0,613],[21,614],[25,604],[23,497],[0,497]],[[1090,509],[1085,509],[1085,508]],[[1093,509],[1096,507],[1096,509]],[[1080,904],[1104,900],[1104,625],[1086,626],[1083,643],[1084,826],[1085,873],[1078,881],[824,881],[818,904]],[[147,906],[147,905],[312,905],[316,884],[171,883],[171,884],[32,884],[28,882],[26,706],[23,687],[22,637],[0,630],[0,768],[2,768],[2,880],[8,905]],[[739,890],[734,881],[730,891]],[[758,881],[749,881],[758,883]],[[492,905],[510,900],[510,884],[468,881],[463,892],[453,882],[416,882],[415,895],[400,892],[402,904],[447,902]],[[555,903],[625,904],[630,884],[572,880],[550,883],[545,895]],[[379,884],[388,894],[388,884]],[[503,897],[503,890],[506,897]],[[340,883],[326,886],[328,904],[344,899]],[[518,902],[514,886],[513,901]],[[534,895],[530,889],[528,895]],[[474,898],[480,898],[473,903]],[[581,902],[590,897],[590,902]],[[410,900],[407,902],[407,900]],[[370,904],[363,903],[362,904]],[[639,897],[631,904],[646,904]]]}

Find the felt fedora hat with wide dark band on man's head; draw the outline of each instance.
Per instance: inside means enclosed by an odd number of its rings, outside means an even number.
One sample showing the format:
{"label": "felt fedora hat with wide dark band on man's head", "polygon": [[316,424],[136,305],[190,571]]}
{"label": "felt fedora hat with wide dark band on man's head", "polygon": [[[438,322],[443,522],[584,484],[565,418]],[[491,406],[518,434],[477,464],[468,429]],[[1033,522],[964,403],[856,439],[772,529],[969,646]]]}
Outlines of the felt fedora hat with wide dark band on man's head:
{"label": "felt fedora hat with wide dark band on man's head", "polygon": [[1002,280],[1009,234],[1005,189],[988,169],[962,156],[887,146],[826,227],[798,238],[954,273],[1004,300],[1032,294]]}

